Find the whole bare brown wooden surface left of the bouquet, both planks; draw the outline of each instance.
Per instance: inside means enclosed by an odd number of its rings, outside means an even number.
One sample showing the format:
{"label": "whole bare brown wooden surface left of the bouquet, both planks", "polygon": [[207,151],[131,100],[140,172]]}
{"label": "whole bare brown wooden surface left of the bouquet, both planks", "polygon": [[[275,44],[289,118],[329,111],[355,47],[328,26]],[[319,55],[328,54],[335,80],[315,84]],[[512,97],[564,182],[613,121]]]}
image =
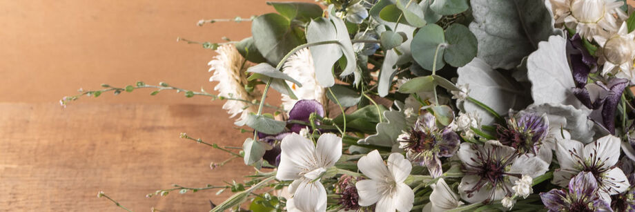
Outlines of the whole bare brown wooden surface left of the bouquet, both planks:
{"label": "whole bare brown wooden surface left of the bouquet, both planks", "polygon": [[[228,155],[179,133],[242,146],[221,106],[204,97],[135,90],[57,101],[78,88],[135,81],[212,91],[207,63],[215,53],[177,42],[240,40],[248,18],[273,12],[264,0],[0,0],[0,211],[121,211],[104,191],[134,211],[208,211],[231,192],[170,193],[172,184],[219,185],[253,169],[242,160],[211,170]],[[275,95],[273,96],[275,98]]]}

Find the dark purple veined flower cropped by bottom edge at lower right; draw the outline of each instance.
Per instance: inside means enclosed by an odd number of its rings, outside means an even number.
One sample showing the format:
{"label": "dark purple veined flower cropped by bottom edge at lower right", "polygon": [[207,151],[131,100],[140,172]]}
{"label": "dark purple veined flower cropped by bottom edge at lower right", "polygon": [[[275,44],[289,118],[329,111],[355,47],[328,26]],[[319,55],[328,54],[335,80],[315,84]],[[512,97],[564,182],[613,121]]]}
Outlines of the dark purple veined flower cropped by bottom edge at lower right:
{"label": "dark purple veined flower cropped by bottom edge at lower right", "polygon": [[569,191],[552,189],[540,193],[549,212],[558,211],[613,211],[597,193],[598,184],[593,173],[580,172],[569,181]]}

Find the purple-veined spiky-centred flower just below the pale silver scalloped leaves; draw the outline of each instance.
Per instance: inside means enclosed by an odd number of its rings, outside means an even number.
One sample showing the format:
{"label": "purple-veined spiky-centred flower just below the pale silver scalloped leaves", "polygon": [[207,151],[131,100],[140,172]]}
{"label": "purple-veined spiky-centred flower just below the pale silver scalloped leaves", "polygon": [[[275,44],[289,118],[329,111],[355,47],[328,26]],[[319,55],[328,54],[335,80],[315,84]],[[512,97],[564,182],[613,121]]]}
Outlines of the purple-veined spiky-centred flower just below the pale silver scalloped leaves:
{"label": "purple-veined spiky-centred flower just below the pale silver scalloped leaves", "polygon": [[498,125],[498,141],[516,148],[520,154],[536,155],[549,133],[549,121],[535,113],[517,114],[507,119],[507,126]]}

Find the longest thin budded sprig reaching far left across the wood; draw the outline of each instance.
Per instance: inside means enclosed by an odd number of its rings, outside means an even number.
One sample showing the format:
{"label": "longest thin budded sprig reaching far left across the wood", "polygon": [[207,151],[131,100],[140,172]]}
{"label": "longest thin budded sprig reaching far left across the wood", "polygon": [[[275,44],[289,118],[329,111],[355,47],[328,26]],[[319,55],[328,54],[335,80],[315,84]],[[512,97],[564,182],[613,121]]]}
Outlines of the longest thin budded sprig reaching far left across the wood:
{"label": "longest thin budded sprig reaching far left across the wood", "polygon": [[[128,85],[125,88],[117,88],[115,86],[110,86],[108,84],[101,84],[101,87],[103,87],[104,89],[101,90],[84,90],[82,88],[79,88],[79,94],[77,95],[73,95],[73,96],[68,96],[68,97],[64,97],[61,100],[59,100],[59,104],[61,106],[66,107],[66,105],[68,104],[68,102],[71,101],[75,101],[77,99],[79,99],[79,97],[81,96],[87,96],[87,97],[99,97],[102,93],[106,93],[106,92],[110,92],[113,91],[113,94],[115,95],[119,95],[121,92],[128,92],[131,93],[136,89],[139,88],[157,88],[158,90],[153,91],[152,93],[150,93],[150,95],[157,95],[159,94],[162,90],[176,90],[177,93],[184,93],[185,97],[194,97],[194,96],[206,96],[206,97],[211,97],[212,100],[228,100],[228,101],[240,101],[240,102],[246,102],[247,104],[251,104],[251,105],[257,105],[260,106],[260,102],[258,102],[257,100],[250,102],[247,101],[245,99],[236,99],[236,98],[232,98],[232,97],[223,97],[223,96],[219,96],[219,95],[213,95],[211,93],[207,93],[203,88],[201,88],[201,92],[195,92],[193,90],[186,90],[183,88],[177,88],[175,86],[170,86],[169,84],[165,83],[165,82],[159,82],[158,86],[154,86],[154,85],[148,85],[146,83],[144,83],[143,81],[137,81],[136,86],[132,86],[132,85]],[[264,104],[264,106],[268,107],[268,108],[274,108],[275,110],[280,110],[283,111],[282,108],[277,107],[277,106],[272,106],[271,104]]]}

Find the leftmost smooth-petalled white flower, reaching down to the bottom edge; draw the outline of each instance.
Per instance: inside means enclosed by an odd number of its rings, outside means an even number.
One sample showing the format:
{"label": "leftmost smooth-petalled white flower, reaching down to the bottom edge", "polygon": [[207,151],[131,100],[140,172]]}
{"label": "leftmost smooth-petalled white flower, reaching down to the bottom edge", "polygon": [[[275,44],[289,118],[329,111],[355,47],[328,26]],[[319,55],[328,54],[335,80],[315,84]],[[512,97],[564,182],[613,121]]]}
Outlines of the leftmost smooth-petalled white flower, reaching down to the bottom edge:
{"label": "leftmost smooth-petalled white flower, reaching down to the bottom edge", "polygon": [[342,156],[342,139],[333,133],[324,133],[317,139],[317,148],[311,140],[296,133],[282,139],[280,166],[275,177],[293,180],[287,202],[289,211],[326,211],[326,190],[320,177]]}

